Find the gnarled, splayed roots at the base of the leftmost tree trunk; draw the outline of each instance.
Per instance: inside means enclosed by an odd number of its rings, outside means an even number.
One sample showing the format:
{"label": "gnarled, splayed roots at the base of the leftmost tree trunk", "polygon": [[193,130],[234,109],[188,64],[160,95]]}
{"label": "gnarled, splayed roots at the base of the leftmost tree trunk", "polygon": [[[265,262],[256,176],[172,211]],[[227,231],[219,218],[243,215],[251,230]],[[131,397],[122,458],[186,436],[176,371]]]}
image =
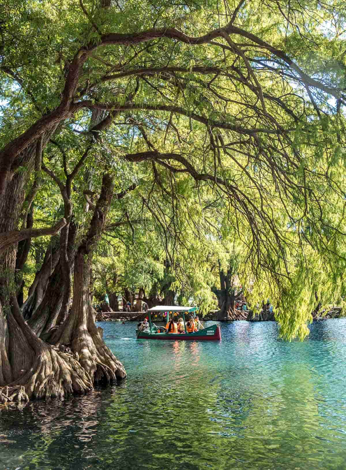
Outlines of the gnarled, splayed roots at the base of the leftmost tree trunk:
{"label": "gnarled, splayed roots at the base of the leftmost tree trunk", "polygon": [[24,376],[0,389],[0,402],[29,399],[62,399],[93,389],[89,374],[70,354],[44,345],[32,368]]}

